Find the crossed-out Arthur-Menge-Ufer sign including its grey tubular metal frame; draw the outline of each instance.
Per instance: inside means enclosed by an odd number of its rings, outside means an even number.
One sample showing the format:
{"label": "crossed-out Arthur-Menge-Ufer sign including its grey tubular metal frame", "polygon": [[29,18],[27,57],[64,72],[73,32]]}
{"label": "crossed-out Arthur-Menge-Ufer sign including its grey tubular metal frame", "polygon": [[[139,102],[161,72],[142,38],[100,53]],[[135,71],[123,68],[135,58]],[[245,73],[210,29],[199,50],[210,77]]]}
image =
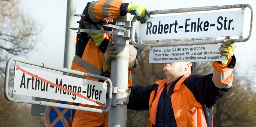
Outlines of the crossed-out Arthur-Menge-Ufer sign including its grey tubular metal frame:
{"label": "crossed-out Arthur-Menge-Ufer sign including its grey tubular metal frame", "polygon": [[[15,61],[15,77],[13,85],[13,97],[8,95],[8,79],[10,72],[10,63]],[[18,62],[35,65],[42,68],[56,70],[65,73],[72,73],[84,77],[96,78],[104,82],[86,80],[84,78],[70,77],[56,73],[44,72],[31,68],[20,67]],[[107,83],[109,87],[108,99],[106,104]],[[7,61],[5,71],[5,98],[12,102],[38,104],[43,106],[61,107],[67,109],[76,109],[82,111],[91,111],[105,113],[108,112],[112,101],[112,83],[109,78],[89,73],[79,72],[67,68],[55,67],[43,63],[31,62],[18,58],[11,58]],[[34,101],[15,98],[15,94],[35,96],[40,98],[55,99],[74,103],[90,104],[102,106],[106,109],[94,109],[89,107],[74,106],[69,104],[52,103],[46,101]]]}

